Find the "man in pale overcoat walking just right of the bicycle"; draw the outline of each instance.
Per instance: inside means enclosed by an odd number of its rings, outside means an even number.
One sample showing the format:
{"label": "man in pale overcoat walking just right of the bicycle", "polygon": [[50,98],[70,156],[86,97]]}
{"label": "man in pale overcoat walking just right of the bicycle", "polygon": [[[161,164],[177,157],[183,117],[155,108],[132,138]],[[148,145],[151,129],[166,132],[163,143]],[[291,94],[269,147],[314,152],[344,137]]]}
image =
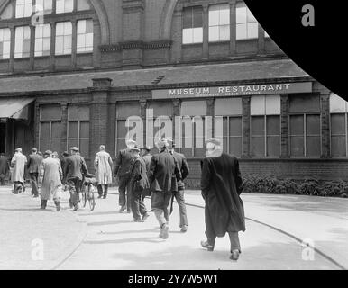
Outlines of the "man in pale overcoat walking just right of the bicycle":
{"label": "man in pale overcoat walking just right of the bicycle", "polygon": [[[105,146],[99,147],[99,152],[95,157],[96,181],[98,188],[98,198],[106,198],[108,184],[113,183],[113,160],[110,154],[105,151]],[[103,195],[104,185],[104,195]]]}

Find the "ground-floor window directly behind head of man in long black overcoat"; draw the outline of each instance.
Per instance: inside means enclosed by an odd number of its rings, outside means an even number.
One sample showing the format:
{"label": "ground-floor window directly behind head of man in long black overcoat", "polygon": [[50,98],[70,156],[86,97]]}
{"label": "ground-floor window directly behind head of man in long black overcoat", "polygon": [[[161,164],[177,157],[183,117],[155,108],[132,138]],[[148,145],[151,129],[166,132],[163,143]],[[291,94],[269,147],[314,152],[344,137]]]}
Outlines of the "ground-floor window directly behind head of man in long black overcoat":
{"label": "ground-floor window directly behind head of man in long black overcoat", "polygon": [[215,137],[225,153],[242,156],[242,98],[215,100]]}

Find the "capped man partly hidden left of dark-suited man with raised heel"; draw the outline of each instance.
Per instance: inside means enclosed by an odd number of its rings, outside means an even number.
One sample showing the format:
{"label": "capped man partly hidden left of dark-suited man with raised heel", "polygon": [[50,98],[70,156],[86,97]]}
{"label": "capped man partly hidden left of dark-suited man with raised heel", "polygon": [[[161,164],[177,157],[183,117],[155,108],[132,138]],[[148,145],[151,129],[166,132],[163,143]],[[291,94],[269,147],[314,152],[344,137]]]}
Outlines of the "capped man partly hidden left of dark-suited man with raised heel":
{"label": "capped man partly hidden left of dark-suited man with raised heel", "polygon": [[142,201],[142,193],[150,187],[148,176],[146,175],[146,164],[139,155],[139,148],[131,148],[134,164],[132,169],[132,197],[131,208],[134,222],[144,222],[150,215]]}

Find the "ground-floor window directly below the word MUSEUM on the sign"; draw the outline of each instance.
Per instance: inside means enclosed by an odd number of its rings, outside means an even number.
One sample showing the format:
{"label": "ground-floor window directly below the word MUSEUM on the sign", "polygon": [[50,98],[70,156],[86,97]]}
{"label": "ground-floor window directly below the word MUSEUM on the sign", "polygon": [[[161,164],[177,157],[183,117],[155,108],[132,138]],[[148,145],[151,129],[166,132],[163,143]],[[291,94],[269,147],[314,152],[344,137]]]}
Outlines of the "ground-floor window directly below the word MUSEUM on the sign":
{"label": "ground-floor window directly below the word MUSEUM on the sign", "polygon": [[[180,109],[181,153],[186,156],[205,155],[206,101],[183,101]],[[177,130],[176,130],[177,132]]]}

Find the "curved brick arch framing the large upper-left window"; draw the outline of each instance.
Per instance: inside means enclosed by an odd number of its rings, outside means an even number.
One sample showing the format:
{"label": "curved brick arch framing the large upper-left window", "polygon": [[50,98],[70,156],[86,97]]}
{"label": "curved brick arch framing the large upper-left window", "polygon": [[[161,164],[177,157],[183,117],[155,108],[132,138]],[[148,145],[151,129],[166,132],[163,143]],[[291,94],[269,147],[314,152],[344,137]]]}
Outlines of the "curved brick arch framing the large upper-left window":
{"label": "curved brick arch framing the large upper-left window", "polygon": [[[0,0],[0,14],[3,13],[5,7],[10,4],[11,1],[12,0]],[[95,9],[96,15],[98,16],[101,30],[101,44],[109,44],[110,27],[104,4],[99,0],[87,0],[87,2]]]}

